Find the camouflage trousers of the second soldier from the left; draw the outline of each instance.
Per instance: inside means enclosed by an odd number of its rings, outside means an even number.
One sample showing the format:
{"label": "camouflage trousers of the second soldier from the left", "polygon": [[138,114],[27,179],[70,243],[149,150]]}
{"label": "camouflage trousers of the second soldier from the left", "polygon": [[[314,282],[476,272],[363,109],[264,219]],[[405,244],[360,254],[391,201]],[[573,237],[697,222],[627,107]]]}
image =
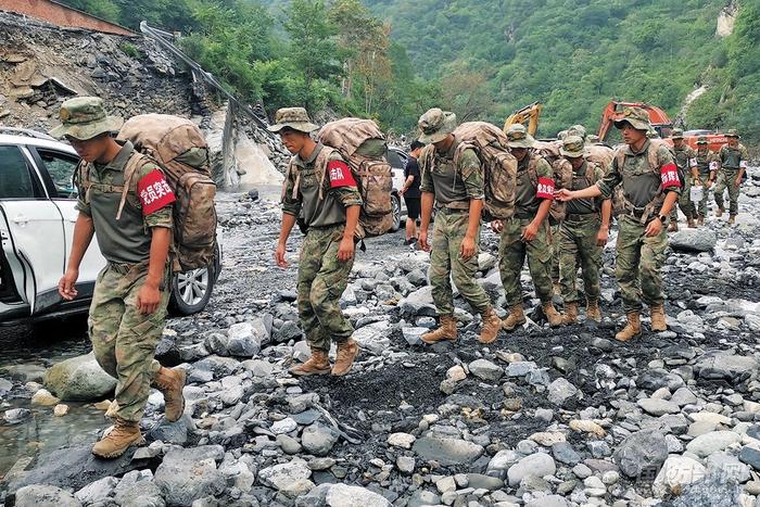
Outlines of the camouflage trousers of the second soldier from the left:
{"label": "camouflage trousers of the second soldier from the left", "polygon": [[313,350],[329,352],[331,341],[344,342],[354,332],[340,306],[354,265],[353,257],[346,262],[338,259],[344,229],[344,224],[309,228],[301,246],[299,319]]}

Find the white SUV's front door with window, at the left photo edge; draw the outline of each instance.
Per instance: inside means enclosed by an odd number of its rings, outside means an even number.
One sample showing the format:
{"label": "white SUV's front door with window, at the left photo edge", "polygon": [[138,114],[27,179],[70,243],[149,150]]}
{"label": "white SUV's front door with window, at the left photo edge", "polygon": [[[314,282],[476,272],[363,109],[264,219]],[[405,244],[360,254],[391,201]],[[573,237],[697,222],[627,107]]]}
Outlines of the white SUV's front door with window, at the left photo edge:
{"label": "white SUV's front door with window, at the left photo edge", "polygon": [[17,292],[35,314],[61,301],[63,217],[25,147],[0,145],[0,236]]}

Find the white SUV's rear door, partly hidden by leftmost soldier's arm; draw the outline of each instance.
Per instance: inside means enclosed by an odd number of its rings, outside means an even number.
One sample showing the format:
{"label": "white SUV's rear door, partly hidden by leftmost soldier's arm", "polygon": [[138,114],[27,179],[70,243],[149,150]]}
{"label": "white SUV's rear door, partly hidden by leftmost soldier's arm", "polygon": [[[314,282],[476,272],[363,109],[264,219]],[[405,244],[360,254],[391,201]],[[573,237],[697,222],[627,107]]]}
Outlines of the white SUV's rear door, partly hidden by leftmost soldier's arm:
{"label": "white SUV's rear door, partly hidden by leftmost soldier's arm", "polygon": [[[74,239],[74,225],[79,216],[79,212],[76,210],[77,189],[74,187],[74,172],[79,164],[79,157],[75,154],[48,148],[37,148],[36,154],[35,161],[40,170],[45,170],[50,176],[51,181],[48,185],[48,190],[63,216],[64,255],[66,263],[68,263]],[[51,183],[52,188],[50,188]],[[77,280],[79,296],[90,296],[92,294],[94,281],[104,266],[105,258],[100,253],[98,238],[94,237],[79,266],[79,279]]]}

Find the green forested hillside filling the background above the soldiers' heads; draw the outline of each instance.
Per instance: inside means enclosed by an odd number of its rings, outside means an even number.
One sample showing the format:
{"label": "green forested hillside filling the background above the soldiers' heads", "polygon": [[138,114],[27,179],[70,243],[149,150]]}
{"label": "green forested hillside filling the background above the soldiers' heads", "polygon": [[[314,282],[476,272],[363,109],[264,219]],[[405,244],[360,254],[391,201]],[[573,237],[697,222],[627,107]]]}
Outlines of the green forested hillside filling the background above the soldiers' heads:
{"label": "green forested hillside filling the background above the soldiers' heads", "polygon": [[[64,1],[181,30],[193,58],[269,113],[306,104],[409,131],[433,104],[501,124],[537,100],[540,135],[553,136],[596,129],[612,97],[675,118],[704,86],[683,126],[760,141],[760,0]],[[719,36],[724,9],[738,14]]]}

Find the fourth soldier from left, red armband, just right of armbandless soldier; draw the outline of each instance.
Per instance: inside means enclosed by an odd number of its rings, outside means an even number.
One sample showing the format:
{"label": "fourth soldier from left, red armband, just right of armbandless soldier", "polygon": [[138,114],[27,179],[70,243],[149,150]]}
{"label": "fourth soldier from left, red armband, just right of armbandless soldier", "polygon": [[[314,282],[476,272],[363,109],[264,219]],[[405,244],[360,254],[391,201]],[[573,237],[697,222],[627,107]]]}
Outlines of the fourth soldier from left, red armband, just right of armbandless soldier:
{"label": "fourth soldier from left, red armband, just right of armbandless soldier", "polygon": [[562,319],[552,303],[552,238],[546,219],[554,200],[554,169],[533,150],[535,141],[523,125],[511,125],[507,139],[518,162],[515,215],[491,224],[495,232],[502,233],[498,267],[509,306],[502,327],[511,331],[525,322],[520,284],[525,257],[544,315],[550,326],[559,326]]}

